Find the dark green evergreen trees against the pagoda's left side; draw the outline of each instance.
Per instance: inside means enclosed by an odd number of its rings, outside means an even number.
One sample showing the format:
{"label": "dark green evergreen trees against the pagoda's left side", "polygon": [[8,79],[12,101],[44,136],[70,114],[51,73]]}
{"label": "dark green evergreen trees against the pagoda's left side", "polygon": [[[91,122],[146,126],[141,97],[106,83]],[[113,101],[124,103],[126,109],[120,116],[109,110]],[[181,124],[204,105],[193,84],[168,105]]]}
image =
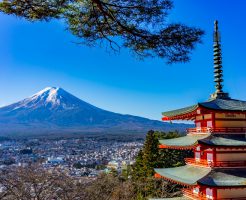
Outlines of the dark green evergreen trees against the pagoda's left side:
{"label": "dark green evergreen trees against the pagoda's left side", "polygon": [[183,164],[183,154],[176,150],[160,150],[159,139],[179,137],[178,132],[149,131],[142,150],[133,166],[133,181],[139,199],[143,197],[169,197],[171,193],[179,194],[179,187],[163,179],[154,178],[154,168],[172,167]]}

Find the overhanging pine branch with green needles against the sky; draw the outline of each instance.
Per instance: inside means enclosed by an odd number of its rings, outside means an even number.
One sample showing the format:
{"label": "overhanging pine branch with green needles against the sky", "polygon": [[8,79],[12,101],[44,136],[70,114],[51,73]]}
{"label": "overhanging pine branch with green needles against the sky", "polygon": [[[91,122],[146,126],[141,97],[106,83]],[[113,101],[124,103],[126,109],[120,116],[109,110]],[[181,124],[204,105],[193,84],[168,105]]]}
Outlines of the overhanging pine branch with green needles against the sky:
{"label": "overhanging pine branch with green needles against the sky", "polygon": [[[30,21],[62,19],[87,45],[105,41],[139,57],[157,56],[169,63],[185,62],[203,31],[168,23],[171,0],[2,0],[0,11]],[[99,42],[99,43],[98,43]]]}

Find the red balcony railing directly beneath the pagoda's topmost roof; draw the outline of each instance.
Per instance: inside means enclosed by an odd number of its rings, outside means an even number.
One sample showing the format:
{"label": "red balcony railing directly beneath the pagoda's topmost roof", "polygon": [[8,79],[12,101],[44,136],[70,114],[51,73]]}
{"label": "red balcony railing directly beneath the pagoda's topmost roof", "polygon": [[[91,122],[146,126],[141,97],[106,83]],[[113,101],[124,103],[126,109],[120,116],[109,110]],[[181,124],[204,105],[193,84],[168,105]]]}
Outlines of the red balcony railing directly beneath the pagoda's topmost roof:
{"label": "red balcony railing directly beneath the pagoda's topmost roof", "polygon": [[210,128],[210,127],[196,127],[188,128],[188,133],[246,133],[246,127],[223,127],[223,128]]}

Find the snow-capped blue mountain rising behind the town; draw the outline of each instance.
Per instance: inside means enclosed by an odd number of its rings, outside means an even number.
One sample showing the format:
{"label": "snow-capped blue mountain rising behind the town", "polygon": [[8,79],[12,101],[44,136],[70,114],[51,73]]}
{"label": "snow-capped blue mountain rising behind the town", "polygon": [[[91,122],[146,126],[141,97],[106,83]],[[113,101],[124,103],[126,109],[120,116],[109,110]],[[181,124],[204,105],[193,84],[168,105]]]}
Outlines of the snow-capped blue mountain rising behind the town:
{"label": "snow-capped blue mountain rising behind the town", "polygon": [[150,129],[184,131],[187,126],[109,112],[57,87],[0,108],[0,135],[146,133]]}

